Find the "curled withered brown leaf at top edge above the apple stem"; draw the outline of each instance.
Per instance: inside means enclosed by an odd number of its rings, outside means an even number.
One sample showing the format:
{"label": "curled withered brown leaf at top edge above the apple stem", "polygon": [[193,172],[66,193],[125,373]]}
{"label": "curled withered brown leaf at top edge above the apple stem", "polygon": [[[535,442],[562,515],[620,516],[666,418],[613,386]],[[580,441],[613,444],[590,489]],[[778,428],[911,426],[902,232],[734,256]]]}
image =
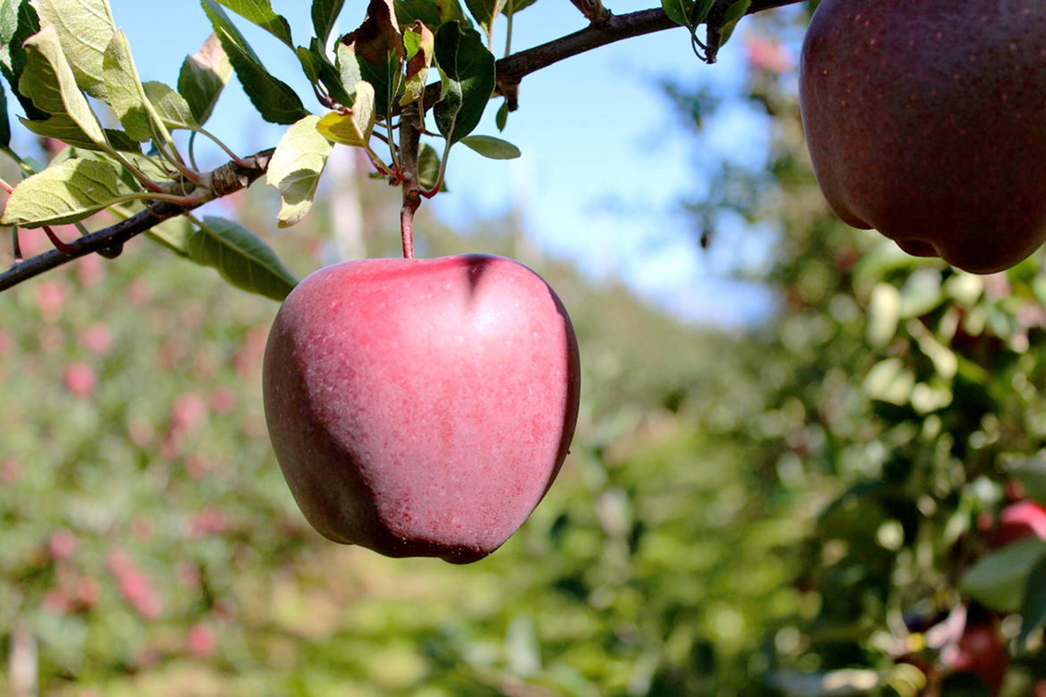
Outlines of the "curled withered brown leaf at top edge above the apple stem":
{"label": "curled withered brown leaf at top edge above the apple stem", "polygon": [[342,37],[338,62],[342,85],[351,92],[354,77],[374,88],[374,110],[391,117],[403,83],[403,37],[391,0],[370,0],[363,24]]}

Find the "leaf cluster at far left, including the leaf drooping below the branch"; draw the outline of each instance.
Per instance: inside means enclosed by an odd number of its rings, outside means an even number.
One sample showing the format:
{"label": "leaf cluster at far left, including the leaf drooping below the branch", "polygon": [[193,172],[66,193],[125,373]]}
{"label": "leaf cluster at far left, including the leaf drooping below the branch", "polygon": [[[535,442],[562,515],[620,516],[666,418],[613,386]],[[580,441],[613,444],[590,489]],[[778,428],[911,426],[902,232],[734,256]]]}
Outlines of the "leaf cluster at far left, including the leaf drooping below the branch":
{"label": "leaf cluster at far left, including the leaf drooping below the branch", "polygon": [[[127,219],[153,201],[198,205],[211,196],[206,177],[186,163],[177,131],[212,137],[203,128],[231,72],[221,46],[209,40],[185,59],[178,90],[142,83],[124,35],[105,0],[58,3],[4,0],[0,4],[0,63],[37,135],[72,145],[47,163],[12,150],[7,114],[0,145],[26,176],[5,204],[4,225],[75,224],[105,209]],[[119,128],[106,128],[88,100],[107,105]],[[190,151],[188,159],[192,161]],[[151,145],[142,152],[142,143]],[[212,198],[212,196],[211,196]],[[177,254],[222,271],[246,290],[282,298],[296,283],[272,250],[235,221],[179,218],[155,226],[151,238]]]}

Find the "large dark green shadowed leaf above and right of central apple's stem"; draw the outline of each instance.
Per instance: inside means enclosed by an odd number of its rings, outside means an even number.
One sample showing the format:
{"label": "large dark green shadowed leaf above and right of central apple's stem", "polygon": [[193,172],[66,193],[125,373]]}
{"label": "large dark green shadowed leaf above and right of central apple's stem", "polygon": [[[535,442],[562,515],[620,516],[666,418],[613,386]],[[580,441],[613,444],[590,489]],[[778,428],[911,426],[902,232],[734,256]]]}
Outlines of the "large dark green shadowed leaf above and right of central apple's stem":
{"label": "large dark green shadowed leaf above and right of central apple's stem", "polygon": [[442,93],[433,111],[436,126],[450,145],[479,125],[494,93],[495,61],[478,31],[456,23],[439,27],[435,51]]}

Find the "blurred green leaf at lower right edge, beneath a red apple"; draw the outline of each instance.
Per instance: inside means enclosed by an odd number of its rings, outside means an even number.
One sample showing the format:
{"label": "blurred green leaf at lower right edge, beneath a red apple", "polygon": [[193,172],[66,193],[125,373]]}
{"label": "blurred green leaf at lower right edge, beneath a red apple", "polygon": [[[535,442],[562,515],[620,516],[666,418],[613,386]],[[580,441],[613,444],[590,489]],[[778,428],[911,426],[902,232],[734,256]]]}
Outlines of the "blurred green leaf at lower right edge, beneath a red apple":
{"label": "blurred green leaf at lower right edge, beneath a red apple", "polygon": [[985,607],[1017,612],[1032,569],[1046,557],[1046,542],[1021,540],[984,555],[967,571],[960,589]]}

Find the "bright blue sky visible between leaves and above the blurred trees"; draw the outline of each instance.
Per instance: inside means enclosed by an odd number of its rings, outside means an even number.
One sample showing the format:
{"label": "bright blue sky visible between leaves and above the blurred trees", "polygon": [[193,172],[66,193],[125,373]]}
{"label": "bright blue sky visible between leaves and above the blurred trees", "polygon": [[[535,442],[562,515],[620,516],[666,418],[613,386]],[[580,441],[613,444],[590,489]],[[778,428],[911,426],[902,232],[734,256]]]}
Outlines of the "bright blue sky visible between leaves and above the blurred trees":
{"label": "bright blue sky visible between leaves and above the blurred trees", "polygon": [[[209,33],[200,5],[178,0],[159,13],[156,3],[110,1],[142,77],[175,84],[181,61]],[[620,15],[654,3],[609,4]],[[183,12],[172,5],[184,5]],[[309,3],[274,0],[273,6],[287,16],[299,43],[311,36]],[[338,29],[355,28],[363,12],[361,0],[346,2]],[[247,22],[237,24],[273,71],[308,95],[287,47]],[[513,46],[527,48],[584,26],[570,3],[545,0],[516,18]],[[573,260],[593,277],[620,278],[689,320],[735,323],[758,317],[766,298],[723,279],[732,261],[749,252],[721,244],[703,253],[693,244],[678,202],[700,190],[697,141],[658,88],[665,77],[688,85],[736,82],[742,59],[742,44],[734,42],[718,64],[706,66],[690,51],[687,32],[678,29],[618,42],[533,73],[523,81],[520,110],[500,134],[523,156],[492,161],[455,149],[448,174],[452,192],[430,205],[460,226],[520,205],[528,232],[543,249]],[[494,111],[488,109],[478,133],[497,134]],[[281,133],[281,127],[262,121],[234,83],[208,128],[237,152],[272,145]],[[755,152],[759,131],[752,117],[731,113],[712,126],[719,137],[710,142],[727,153],[737,150],[735,143],[752,143]]]}

